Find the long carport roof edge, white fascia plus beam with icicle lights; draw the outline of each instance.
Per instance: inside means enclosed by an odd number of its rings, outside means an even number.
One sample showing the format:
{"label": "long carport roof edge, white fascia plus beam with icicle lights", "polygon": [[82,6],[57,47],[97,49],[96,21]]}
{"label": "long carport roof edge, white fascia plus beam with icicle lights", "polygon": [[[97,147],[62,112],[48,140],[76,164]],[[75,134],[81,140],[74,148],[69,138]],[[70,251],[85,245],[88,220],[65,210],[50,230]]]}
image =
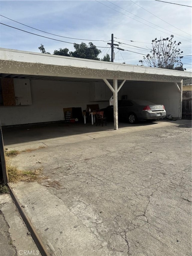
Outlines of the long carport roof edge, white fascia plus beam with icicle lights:
{"label": "long carport roof edge, white fascia plus beam with icicle lights", "polygon": [[191,72],[0,48],[0,77],[47,80],[181,82]]}

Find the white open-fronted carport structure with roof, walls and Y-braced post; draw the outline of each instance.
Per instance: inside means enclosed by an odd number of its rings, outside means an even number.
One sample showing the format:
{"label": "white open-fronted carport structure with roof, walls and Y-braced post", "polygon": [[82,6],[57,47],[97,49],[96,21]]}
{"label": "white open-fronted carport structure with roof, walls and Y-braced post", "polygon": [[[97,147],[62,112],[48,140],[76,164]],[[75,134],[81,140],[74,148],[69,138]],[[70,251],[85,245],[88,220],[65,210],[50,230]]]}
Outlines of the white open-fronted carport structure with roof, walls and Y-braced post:
{"label": "white open-fronted carport structure with roof, walls and Y-braced post", "polygon": [[[5,81],[8,99],[0,107],[1,125],[62,120],[63,107],[84,108],[90,103],[106,107],[113,94],[114,129],[117,130],[118,92],[119,98],[124,95],[130,99],[161,102],[167,113],[181,119],[182,80],[191,74],[1,48],[0,77]],[[7,78],[14,80],[13,91],[9,82],[6,83]],[[19,97],[16,93],[20,93]]]}

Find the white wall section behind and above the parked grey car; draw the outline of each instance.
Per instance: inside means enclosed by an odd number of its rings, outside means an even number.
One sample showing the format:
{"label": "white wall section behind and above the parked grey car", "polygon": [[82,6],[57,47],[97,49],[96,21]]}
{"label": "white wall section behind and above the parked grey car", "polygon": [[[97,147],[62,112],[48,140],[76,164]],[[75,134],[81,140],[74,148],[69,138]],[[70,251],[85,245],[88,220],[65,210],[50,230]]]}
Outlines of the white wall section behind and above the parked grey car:
{"label": "white wall section behind and above the parked grey car", "polygon": [[179,117],[179,91],[174,83],[131,82],[120,89],[118,98],[128,95],[128,99],[145,99],[156,104],[163,104],[167,114]]}

